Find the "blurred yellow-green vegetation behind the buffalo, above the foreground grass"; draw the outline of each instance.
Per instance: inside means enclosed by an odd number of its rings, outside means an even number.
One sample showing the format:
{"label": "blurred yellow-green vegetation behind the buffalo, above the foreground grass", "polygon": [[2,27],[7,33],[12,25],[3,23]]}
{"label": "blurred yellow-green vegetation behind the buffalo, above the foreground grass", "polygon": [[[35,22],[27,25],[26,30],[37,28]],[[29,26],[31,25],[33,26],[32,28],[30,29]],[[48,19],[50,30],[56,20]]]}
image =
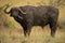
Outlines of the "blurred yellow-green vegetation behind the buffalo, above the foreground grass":
{"label": "blurred yellow-green vegetation behind the buffalo, above the foreground grass", "polygon": [[[11,6],[23,6],[23,5],[53,5],[58,8],[58,25],[63,27],[65,25],[65,0],[0,0],[0,27],[15,28],[16,23],[9,15],[4,14],[3,9],[6,4]],[[17,27],[17,26],[16,26]]]}

